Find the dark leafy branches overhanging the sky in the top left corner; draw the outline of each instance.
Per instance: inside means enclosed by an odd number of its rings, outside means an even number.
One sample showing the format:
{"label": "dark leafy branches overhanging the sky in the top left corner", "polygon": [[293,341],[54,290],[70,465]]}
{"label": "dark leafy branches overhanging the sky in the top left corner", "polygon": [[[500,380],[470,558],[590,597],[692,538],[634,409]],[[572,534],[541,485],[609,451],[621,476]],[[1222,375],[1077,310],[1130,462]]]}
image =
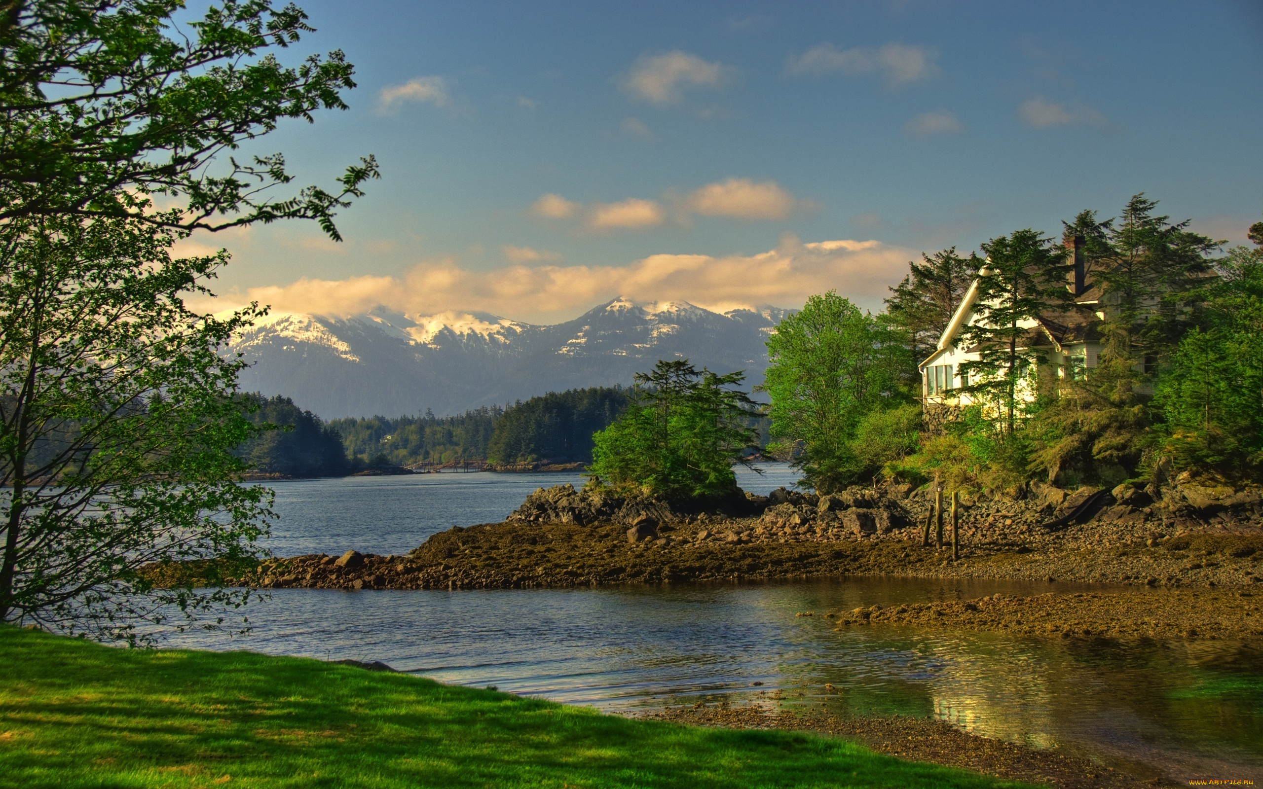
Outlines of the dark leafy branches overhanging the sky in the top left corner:
{"label": "dark leafy branches overhanging the sky in the top left corner", "polygon": [[[341,50],[297,67],[283,49],[311,32],[307,15],[269,0],[226,0],[181,25],[174,0],[34,0],[0,32],[0,221],[27,216],[138,216],[184,230],[333,218],[378,178],[361,158],[336,187],[273,196],[284,160],[216,158],[277,128],[345,110],[355,87]],[[182,30],[184,27],[187,30]],[[182,208],[154,212],[145,196]]]}

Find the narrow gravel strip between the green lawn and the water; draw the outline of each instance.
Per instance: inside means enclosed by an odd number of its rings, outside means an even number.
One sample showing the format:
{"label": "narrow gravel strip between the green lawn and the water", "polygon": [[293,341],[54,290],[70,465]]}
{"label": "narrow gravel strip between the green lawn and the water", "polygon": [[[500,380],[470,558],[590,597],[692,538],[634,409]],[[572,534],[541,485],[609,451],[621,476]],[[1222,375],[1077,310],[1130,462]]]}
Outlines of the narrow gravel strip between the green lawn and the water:
{"label": "narrow gravel strip between the green lawn and the water", "polygon": [[[988,775],[1058,789],[1139,789],[1163,785],[1095,765],[1056,750],[1036,750],[980,737],[932,718],[837,717],[825,712],[769,712],[749,707],[674,707],[640,717],[697,726],[816,731],[858,740],[865,746],[907,759],[965,768]],[[1173,784],[1172,784],[1173,785]]]}

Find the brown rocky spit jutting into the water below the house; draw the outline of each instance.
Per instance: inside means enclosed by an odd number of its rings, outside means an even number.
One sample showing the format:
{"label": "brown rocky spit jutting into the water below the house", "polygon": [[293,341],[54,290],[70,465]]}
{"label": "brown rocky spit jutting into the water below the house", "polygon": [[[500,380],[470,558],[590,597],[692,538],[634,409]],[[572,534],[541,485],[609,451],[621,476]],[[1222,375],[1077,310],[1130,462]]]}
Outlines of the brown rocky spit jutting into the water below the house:
{"label": "brown rocky spit jutting into the water below the house", "polygon": [[[1263,569],[1257,491],[1186,486],[1153,500],[1045,487],[1023,500],[964,501],[959,559],[936,544],[926,490],[664,502],[570,485],[539,489],[504,523],[453,526],[405,555],[347,550],[272,559],[232,579],[265,588],[508,588],[922,576],[1243,587]],[[950,540],[950,514],[943,539]],[[172,573],[172,568],[153,571]],[[187,573],[186,573],[187,574]],[[195,573],[196,574],[196,573]],[[172,576],[171,582],[179,579]],[[183,578],[187,582],[187,577]]]}

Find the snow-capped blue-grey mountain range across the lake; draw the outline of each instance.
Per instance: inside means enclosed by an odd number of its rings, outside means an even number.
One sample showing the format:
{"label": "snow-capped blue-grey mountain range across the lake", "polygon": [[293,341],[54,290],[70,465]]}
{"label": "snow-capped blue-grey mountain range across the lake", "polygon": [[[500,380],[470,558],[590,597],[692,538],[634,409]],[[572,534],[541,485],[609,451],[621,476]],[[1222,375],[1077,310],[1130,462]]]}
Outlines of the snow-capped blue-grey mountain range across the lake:
{"label": "snow-capped blue-grey mountain range across the lake", "polygon": [[779,308],[711,312],[687,302],[614,299],[566,323],[533,326],[488,313],[351,318],[274,313],[232,350],[251,366],[241,388],[284,394],[321,417],[458,413],[576,386],[630,384],[659,359],[763,380],[764,340]]}

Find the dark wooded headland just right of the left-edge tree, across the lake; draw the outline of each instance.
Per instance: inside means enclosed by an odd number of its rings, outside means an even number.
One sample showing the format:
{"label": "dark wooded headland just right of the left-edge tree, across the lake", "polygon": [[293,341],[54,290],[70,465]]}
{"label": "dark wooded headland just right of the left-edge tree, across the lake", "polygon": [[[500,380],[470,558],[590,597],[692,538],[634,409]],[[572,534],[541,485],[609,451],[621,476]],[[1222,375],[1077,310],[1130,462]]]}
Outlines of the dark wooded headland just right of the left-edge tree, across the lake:
{"label": "dark wooded headland just right of the left-edge tree, across the lake", "polygon": [[251,423],[279,428],[256,433],[235,449],[237,457],[250,465],[251,472],[292,477],[332,477],[350,472],[342,437],[320,417],[280,395],[245,396],[254,398],[259,406],[248,414]]}

